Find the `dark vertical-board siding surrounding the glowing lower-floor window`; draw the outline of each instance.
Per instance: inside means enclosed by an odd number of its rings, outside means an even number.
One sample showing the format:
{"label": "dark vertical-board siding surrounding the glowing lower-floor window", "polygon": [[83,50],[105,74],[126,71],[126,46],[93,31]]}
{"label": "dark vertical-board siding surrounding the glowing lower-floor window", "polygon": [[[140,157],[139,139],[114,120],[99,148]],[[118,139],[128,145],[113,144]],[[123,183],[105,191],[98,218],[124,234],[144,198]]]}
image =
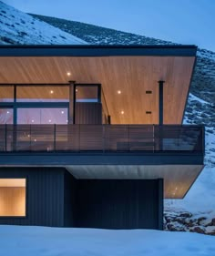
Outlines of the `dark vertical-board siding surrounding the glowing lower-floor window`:
{"label": "dark vertical-board siding surrounding the glowing lower-floor window", "polygon": [[26,178],[26,217],[0,217],[0,224],[62,227],[64,172],[61,168],[1,168],[0,178]]}

